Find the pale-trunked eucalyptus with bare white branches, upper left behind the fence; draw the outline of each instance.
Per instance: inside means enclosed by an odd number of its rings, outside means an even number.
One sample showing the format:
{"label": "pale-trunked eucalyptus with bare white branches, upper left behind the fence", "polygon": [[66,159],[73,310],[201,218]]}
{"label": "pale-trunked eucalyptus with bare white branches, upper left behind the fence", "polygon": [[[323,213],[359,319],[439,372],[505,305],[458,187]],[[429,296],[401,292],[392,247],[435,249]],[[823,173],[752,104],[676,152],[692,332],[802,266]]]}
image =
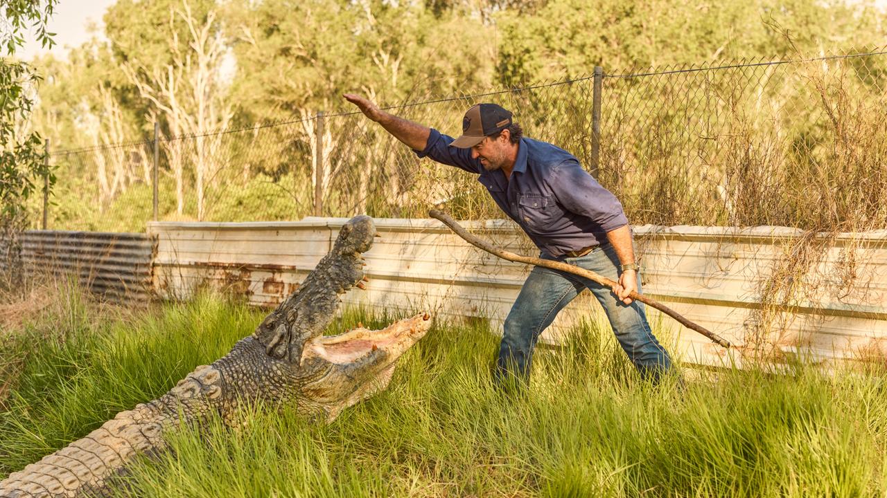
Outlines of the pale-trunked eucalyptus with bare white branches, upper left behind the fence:
{"label": "pale-trunked eucalyptus with bare white branches, upper left behind the fence", "polygon": [[208,0],[121,0],[105,16],[114,57],[143,99],[145,121],[162,121],[170,139],[165,152],[176,180],[177,214],[184,212],[185,183],[192,179],[198,220],[225,163],[222,137],[210,132],[227,128],[233,116],[219,12]]}

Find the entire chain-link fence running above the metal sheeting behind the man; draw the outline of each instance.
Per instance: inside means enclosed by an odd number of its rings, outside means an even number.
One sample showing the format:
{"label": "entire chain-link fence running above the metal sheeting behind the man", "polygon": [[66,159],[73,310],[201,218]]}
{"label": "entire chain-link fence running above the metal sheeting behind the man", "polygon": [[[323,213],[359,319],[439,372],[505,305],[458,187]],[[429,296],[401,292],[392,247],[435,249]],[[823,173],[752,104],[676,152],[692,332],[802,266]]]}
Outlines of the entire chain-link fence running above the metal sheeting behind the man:
{"label": "entire chain-link fence running above the metal sheeting behind the man", "polygon": [[[458,135],[468,106],[497,102],[526,136],[576,154],[632,223],[863,230],[887,226],[885,90],[887,51],[875,48],[605,67],[389,112]],[[427,217],[433,206],[459,218],[504,217],[474,175],[419,160],[353,107],[343,109],[195,136],[160,129],[153,140],[52,152],[58,182],[47,226],[140,231],[153,219]]]}

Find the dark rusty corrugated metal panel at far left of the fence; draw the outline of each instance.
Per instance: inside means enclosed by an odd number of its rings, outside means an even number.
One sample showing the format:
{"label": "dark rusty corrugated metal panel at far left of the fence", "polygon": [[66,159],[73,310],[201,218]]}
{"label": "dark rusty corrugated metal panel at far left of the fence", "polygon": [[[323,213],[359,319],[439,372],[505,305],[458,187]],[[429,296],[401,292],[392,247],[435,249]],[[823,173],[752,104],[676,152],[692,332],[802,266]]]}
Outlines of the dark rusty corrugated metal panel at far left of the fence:
{"label": "dark rusty corrugated metal panel at far left of the fence", "polygon": [[21,246],[30,271],[76,276],[114,302],[144,304],[151,297],[154,242],[145,234],[27,230]]}

